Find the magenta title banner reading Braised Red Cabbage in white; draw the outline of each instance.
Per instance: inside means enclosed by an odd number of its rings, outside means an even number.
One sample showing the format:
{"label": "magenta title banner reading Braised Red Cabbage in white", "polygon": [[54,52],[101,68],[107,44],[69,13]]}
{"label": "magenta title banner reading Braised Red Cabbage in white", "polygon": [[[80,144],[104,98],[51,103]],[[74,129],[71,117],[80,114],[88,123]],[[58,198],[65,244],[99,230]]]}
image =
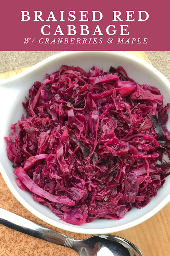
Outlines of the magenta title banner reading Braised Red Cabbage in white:
{"label": "magenta title banner reading Braised Red Cabbage in white", "polygon": [[170,50],[169,10],[167,0],[4,1],[0,50]]}

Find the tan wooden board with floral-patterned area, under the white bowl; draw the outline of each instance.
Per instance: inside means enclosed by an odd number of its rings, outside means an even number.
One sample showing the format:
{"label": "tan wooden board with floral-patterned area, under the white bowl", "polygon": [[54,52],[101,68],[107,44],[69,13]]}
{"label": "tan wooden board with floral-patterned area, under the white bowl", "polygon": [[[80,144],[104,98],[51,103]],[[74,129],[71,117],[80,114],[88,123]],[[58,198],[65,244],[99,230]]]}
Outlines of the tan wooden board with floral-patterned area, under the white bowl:
{"label": "tan wooden board with floral-patterned area, under the white bowl", "polygon": [[[129,52],[150,63],[144,52]],[[151,63],[150,63],[151,64]],[[0,80],[12,77],[28,69],[22,68],[0,74]],[[43,226],[57,230],[75,239],[85,239],[92,235],[76,234],[50,226],[28,212],[11,194],[0,174],[0,207],[37,222]],[[143,256],[170,255],[170,204],[155,216],[142,224],[121,232],[113,233],[121,236],[140,248]],[[73,250],[27,236],[0,225],[0,256],[77,256]]]}

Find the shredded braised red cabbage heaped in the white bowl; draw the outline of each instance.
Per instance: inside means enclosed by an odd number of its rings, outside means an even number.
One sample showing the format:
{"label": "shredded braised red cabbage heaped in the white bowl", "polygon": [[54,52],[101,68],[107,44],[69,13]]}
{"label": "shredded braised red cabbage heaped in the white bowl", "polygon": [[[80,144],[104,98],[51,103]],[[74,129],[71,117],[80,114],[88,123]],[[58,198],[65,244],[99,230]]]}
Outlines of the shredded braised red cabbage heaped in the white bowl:
{"label": "shredded braised red cabbage heaped in the white bowl", "polygon": [[75,225],[146,206],[170,169],[170,104],[162,109],[160,91],[122,67],[63,65],[46,77],[5,137],[18,187]]}

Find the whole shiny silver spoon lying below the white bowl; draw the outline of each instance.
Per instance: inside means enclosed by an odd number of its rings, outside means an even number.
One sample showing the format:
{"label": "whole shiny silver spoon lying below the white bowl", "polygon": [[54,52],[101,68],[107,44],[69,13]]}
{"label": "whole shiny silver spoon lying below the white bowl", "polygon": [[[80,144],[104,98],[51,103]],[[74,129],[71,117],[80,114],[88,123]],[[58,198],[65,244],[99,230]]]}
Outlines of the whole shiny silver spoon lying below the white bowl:
{"label": "whole shiny silver spoon lying below the white bowl", "polygon": [[80,256],[143,256],[131,242],[113,235],[75,240],[0,208],[0,224],[54,244],[71,248]]}

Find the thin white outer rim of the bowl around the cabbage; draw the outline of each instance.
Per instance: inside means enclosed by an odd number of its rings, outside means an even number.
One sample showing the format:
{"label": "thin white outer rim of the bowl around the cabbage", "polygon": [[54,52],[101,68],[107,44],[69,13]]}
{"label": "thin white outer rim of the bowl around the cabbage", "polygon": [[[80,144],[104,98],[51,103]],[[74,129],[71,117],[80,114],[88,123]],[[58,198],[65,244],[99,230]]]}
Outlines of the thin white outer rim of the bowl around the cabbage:
{"label": "thin white outer rim of the bowl around the cabbage", "polygon": [[[89,53],[90,51],[87,51],[86,53]],[[102,51],[106,52],[106,51]],[[160,71],[158,71],[157,69],[155,69],[152,65],[150,65],[148,62],[146,62],[145,60],[142,60],[130,53],[127,52],[120,52],[120,51],[107,51],[111,54],[116,54],[119,56],[123,56],[125,58],[128,58],[129,60],[132,60],[134,62],[139,63],[142,66],[145,66],[148,70],[150,70],[152,73],[154,73],[156,76],[159,76],[161,80],[164,81],[164,83],[166,83],[169,87],[170,87],[170,82],[168,81],[168,79],[166,79],[166,77],[164,77],[164,75],[162,75],[162,73],[160,73]],[[25,75],[28,75],[30,73],[32,73],[32,71],[36,71],[37,69],[41,68],[43,65],[47,64],[48,62],[50,62],[51,60],[55,60],[57,58],[60,58],[61,56],[65,56],[65,55],[70,55],[70,54],[82,54],[85,53],[85,51],[67,51],[67,52],[59,52],[57,54],[54,54],[48,58],[45,58],[44,60],[42,60],[41,62],[37,63],[36,65],[28,68],[27,70],[23,71],[22,73],[15,75],[14,77],[10,77],[4,80],[0,81],[0,85],[5,85],[6,83],[12,82],[12,81],[16,81],[22,77],[24,77]],[[90,52],[91,53],[91,52]],[[99,53],[99,52],[93,52],[93,53]],[[128,228],[132,228],[146,220],[148,220],[149,218],[151,218],[152,216],[154,216],[157,212],[159,212],[164,206],[166,206],[166,204],[168,204],[168,202],[170,202],[170,194],[168,196],[166,196],[166,198],[164,198],[164,200],[162,200],[162,202],[160,202],[160,204],[158,204],[154,209],[152,209],[150,212],[148,212],[147,214],[145,214],[144,216],[138,218],[137,220],[131,221],[127,224],[123,224],[121,226],[117,226],[117,227],[111,227],[111,228],[99,228],[99,229],[86,229],[86,228],[79,228],[79,226],[67,226],[67,224],[64,223],[59,223],[56,222],[55,220],[51,220],[50,218],[44,216],[43,214],[41,214],[40,212],[38,212],[37,210],[35,210],[32,206],[30,206],[30,204],[28,204],[23,198],[22,196],[20,196],[20,194],[16,191],[16,189],[13,187],[10,179],[8,178],[8,175],[6,174],[6,171],[4,170],[4,168],[2,167],[2,164],[0,163],[0,173],[2,174],[2,177],[4,178],[4,181],[6,182],[8,188],[10,189],[10,191],[12,192],[12,194],[15,196],[15,198],[32,214],[34,214],[36,217],[40,218],[41,220],[43,220],[44,222],[55,226],[57,228],[69,231],[69,232],[75,232],[75,233],[80,233],[80,234],[109,234],[109,233],[113,233],[113,232],[119,232],[122,230],[126,230]]]}

